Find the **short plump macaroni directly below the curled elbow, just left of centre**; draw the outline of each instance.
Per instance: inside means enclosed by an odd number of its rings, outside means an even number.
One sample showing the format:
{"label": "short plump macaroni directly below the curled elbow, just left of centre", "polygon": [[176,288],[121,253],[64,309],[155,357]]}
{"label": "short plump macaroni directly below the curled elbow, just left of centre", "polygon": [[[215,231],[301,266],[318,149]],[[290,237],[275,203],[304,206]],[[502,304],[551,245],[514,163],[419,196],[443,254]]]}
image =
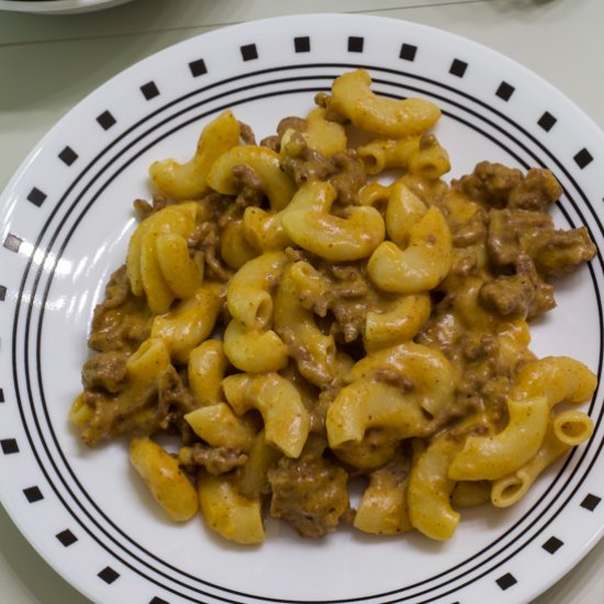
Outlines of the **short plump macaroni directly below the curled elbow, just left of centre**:
{"label": "short plump macaroni directly below the curled elbow, just left of centre", "polygon": [[279,371],[288,365],[288,349],[272,329],[248,329],[232,318],[224,331],[224,353],[234,367],[250,373]]}

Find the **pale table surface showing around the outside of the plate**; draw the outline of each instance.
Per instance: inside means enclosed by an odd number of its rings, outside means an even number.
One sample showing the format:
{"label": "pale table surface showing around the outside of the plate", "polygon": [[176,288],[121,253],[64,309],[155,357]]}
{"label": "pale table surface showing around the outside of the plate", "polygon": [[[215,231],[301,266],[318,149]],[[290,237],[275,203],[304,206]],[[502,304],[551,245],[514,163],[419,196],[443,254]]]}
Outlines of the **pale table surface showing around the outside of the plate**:
{"label": "pale table surface showing around the outside of the plate", "polygon": [[[303,12],[380,14],[463,35],[545,77],[604,128],[604,0],[133,0],[77,15],[0,12],[0,189],[59,118],[125,67],[224,24]],[[603,601],[604,540],[534,604]],[[87,602],[0,506],[0,604]]]}

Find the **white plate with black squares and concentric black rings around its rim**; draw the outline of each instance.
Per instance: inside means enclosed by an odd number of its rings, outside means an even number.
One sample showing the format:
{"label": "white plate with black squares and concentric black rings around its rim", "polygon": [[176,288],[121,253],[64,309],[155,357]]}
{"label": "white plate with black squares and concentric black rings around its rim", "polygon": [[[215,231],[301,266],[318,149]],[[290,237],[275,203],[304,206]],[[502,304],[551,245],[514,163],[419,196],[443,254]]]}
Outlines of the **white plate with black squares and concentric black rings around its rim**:
{"label": "white plate with black squares and concentric black rings around its rim", "polygon": [[[485,158],[551,169],[564,189],[557,222],[585,224],[604,249],[603,135],[547,82],[467,40],[371,16],[283,18],[190,40],[109,81],[34,149],[2,194],[0,222],[2,503],[96,602],[517,604],[602,535],[600,391],[586,405],[593,439],[517,506],[466,511],[445,544],[346,529],[304,540],[269,523],[264,546],[230,546],[201,521],[165,522],[121,443],[87,450],[70,429],[92,309],[124,258],[152,160],[187,159],[202,125],[228,107],[259,136],[272,133],[354,66],[380,92],[441,107],[437,135],[454,176]],[[539,356],[570,355],[601,373],[603,279],[599,254],[559,283],[558,307],[534,328]]]}

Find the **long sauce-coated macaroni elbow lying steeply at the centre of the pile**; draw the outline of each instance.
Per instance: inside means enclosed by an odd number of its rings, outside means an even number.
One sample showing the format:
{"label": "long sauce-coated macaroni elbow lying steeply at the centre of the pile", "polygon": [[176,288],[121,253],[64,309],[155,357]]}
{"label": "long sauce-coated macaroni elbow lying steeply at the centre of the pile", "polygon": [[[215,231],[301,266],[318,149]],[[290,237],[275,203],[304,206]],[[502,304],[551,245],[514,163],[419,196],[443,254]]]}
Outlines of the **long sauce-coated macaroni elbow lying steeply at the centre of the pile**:
{"label": "long sauce-coated macaroni elbow lying steeply at the centre of the pile", "polygon": [[336,344],[334,336],[317,327],[314,314],[300,304],[291,276],[297,265],[284,270],[275,295],[275,331],[288,346],[300,373],[315,385],[326,385],[334,381],[338,369]]}

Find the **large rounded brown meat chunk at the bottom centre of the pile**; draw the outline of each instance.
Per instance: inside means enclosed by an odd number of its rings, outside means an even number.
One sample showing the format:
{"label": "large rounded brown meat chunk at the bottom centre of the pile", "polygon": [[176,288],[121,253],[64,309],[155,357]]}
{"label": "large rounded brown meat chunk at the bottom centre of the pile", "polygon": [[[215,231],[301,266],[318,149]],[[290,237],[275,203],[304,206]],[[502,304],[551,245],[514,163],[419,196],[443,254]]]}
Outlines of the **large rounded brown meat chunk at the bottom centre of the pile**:
{"label": "large rounded brown meat chunk at the bottom centre of the pile", "polygon": [[286,521],[303,537],[335,530],[348,511],[348,474],[323,457],[283,457],[269,470],[268,480],[271,516]]}

